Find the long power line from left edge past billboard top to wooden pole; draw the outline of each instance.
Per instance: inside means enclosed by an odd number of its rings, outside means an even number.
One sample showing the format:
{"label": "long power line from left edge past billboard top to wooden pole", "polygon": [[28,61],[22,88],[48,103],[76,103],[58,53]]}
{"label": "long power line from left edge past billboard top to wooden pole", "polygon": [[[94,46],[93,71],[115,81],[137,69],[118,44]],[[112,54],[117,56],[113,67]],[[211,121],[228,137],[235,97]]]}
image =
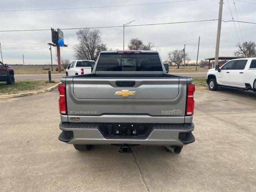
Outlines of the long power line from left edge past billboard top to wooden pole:
{"label": "long power line from left edge past billboard top to wooden pole", "polygon": [[[209,20],[196,20],[196,21],[183,21],[183,22],[170,22],[170,23],[154,23],[154,24],[140,24],[140,25],[128,25],[126,27],[135,26],[150,26],[150,25],[165,25],[165,24],[181,24],[181,23],[194,23],[204,21],[216,21],[218,19]],[[83,27],[83,28],[61,28],[61,30],[74,30],[74,29],[99,29],[99,28],[120,28],[123,26],[100,26],[100,27]],[[26,29],[26,30],[0,30],[0,32],[18,32],[18,31],[50,31],[51,29]]]}

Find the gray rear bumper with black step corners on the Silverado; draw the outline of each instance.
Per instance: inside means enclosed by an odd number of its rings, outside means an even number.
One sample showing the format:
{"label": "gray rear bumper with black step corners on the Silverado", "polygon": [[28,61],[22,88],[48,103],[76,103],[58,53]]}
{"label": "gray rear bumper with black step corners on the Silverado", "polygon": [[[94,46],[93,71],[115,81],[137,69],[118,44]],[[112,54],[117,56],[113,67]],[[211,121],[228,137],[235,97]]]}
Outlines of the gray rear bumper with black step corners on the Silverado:
{"label": "gray rear bumper with black step corners on the Silverado", "polygon": [[152,128],[147,138],[105,138],[95,124],[60,123],[62,133],[59,140],[69,144],[141,144],[183,146],[195,141],[194,124],[157,125]]}

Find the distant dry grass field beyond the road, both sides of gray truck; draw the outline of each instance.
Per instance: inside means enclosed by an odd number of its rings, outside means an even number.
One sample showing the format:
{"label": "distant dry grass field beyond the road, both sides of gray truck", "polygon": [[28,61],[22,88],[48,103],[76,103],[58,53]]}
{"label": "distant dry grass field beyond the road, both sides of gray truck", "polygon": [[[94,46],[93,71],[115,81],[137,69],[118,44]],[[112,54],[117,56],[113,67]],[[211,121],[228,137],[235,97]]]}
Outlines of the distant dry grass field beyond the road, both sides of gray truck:
{"label": "distant dry grass field beyond the road, both sides of gray truck", "polygon": [[[12,66],[12,65],[10,65]],[[12,66],[14,69],[15,74],[48,74],[48,70],[43,70],[42,68],[50,68],[52,70],[51,66],[47,65],[38,65],[38,66],[32,66],[32,65],[25,65],[24,70],[23,66]],[[53,72],[52,74],[58,74],[56,71],[57,66],[53,66]],[[207,72],[208,66],[205,67],[198,67],[196,70],[196,66],[187,66],[185,69],[181,66],[180,69],[177,69],[177,67],[169,67],[170,73],[189,73],[189,72]],[[65,74],[65,70],[61,72],[62,74]]]}

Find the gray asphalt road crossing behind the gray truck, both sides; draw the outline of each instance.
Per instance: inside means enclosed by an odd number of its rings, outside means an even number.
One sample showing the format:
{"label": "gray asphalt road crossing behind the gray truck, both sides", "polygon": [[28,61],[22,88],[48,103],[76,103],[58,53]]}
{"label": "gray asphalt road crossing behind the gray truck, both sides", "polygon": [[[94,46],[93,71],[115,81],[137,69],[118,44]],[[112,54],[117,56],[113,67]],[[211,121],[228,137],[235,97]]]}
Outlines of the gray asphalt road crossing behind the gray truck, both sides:
{"label": "gray asphalt road crossing behind the gray truck, both sides", "polygon": [[[175,73],[170,73],[175,74]],[[187,77],[206,77],[206,72],[193,72],[193,73],[176,73],[176,75]],[[60,79],[65,74],[52,74],[52,79]],[[48,79],[48,74],[16,74],[15,79]]]}

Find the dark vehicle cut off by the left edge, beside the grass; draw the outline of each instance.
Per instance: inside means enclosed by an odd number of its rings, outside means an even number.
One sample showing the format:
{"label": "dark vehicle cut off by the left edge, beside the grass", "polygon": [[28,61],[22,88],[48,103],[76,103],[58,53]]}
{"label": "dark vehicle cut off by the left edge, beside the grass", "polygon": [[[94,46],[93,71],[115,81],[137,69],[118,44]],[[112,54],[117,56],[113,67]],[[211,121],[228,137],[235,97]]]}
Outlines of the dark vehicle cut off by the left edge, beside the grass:
{"label": "dark vehicle cut off by the left edge, beside the grass", "polygon": [[0,62],[0,81],[6,81],[7,84],[14,84],[14,70],[8,64]]}

